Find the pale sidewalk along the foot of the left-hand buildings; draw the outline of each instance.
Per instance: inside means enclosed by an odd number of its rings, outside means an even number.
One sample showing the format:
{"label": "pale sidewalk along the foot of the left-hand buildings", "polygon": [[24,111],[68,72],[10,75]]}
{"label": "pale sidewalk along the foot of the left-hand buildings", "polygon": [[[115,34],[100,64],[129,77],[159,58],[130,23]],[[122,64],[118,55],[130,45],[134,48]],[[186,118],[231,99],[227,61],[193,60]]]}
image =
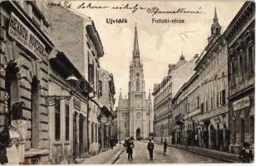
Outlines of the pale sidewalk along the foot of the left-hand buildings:
{"label": "pale sidewalk along the foot of the left-hand buildings", "polygon": [[116,144],[113,149],[107,149],[105,152],[86,158],[81,164],[112,164],[119,158],[122,152],[121,144]]}

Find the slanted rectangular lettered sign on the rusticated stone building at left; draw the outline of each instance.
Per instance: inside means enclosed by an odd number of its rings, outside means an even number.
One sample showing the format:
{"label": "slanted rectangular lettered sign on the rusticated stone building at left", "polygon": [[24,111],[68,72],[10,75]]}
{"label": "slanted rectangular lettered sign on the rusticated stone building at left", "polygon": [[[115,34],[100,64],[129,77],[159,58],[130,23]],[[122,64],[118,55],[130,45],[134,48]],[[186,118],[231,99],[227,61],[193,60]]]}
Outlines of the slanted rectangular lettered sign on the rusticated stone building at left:
{"label": "slanted rectangular lettered sign on the rusticated stone building at left", "polygon": [[10,17],[8,33],[37,58],[43,55],[45,46],[13,12]]}

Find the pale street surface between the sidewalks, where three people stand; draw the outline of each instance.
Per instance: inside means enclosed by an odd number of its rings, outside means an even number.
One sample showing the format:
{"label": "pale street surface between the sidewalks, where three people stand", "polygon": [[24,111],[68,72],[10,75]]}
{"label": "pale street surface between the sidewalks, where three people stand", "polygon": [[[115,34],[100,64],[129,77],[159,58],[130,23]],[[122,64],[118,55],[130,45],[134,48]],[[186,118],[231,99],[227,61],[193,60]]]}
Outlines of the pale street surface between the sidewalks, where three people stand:
{"label": "pale street surface between the sidewalks, where three people stand", "polygon": [[224,163],[223,160],[210,158],[200,154],[194,154],[184,149],[168,147],[166,156],[163,156],[163,147],[155,144],[154,159],[150,160],[149,152],[146,148],[147,143],[135,141],[133,159],[128,160],[126,151],[121,154],[115,164],[210,164]]}

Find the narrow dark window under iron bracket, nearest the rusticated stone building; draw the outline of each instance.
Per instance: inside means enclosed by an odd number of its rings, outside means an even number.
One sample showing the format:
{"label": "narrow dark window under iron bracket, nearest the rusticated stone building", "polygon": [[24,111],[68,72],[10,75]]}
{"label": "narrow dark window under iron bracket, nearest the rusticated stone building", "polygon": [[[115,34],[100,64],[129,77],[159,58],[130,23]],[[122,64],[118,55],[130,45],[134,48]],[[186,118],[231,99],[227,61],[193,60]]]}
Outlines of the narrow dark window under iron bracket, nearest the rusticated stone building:
{"label": "narrow dark window under iron bracket, nearest the rusticated stone building", "polygon": [[55,105],[55,140],[61,139],[61,105],[60,101]]}

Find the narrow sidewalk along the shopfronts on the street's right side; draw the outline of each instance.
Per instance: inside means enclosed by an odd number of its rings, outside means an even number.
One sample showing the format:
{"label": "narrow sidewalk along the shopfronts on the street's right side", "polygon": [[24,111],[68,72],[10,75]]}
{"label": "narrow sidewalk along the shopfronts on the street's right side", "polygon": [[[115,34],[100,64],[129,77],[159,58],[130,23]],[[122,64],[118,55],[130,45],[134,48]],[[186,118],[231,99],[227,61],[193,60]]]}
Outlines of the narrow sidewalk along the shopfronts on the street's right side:
{"label": "narrow sidewalk along the shopfronts on the street's right side", "polygon": [[181,144],[170,144],[169,146],[179,148],[179,149],[189,150],[191,152],[210,156],[216,159],[223,159],[229,163],[241,163],[238,154],[230,154],[230,153],[219,151],[219,150],[205,149],[205,148],[199,148],[194,146],[188,146],[188,148],[185,148],[185,145],[181,145]]}

